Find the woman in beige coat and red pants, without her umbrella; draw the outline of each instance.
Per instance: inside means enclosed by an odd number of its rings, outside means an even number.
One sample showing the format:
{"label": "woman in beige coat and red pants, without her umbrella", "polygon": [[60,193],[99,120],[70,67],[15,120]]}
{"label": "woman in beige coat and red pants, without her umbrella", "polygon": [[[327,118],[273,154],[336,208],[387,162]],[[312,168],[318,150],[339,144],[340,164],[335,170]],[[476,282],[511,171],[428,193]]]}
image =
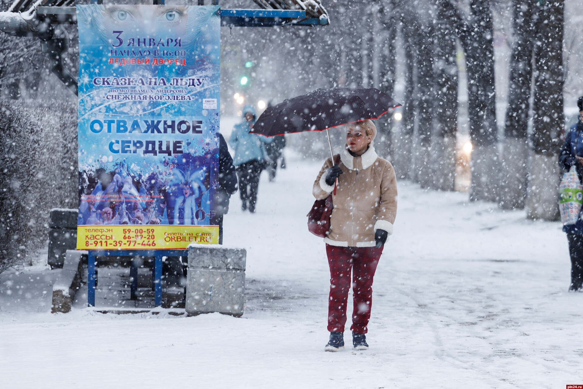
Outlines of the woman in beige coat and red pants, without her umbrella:
{"label": "woman in beige coat and red pants, without her umbrella", "polygon": [[[331,229],[324,238],[330,266],[326,351],[344,347],[346,302],[352,271],[352,343],[368,349],[365,334],[373,295],[373,277],[387,237],[393,232],[397,211],[395,171],[374,152],[377,128],[365,120],[347,126],[340,163],[328,158],[314,181],[313,194],[325,199],[332,193]],[[336,156],[335,156],[336,160]],[[336,193],[335,180],[338,179]]]}

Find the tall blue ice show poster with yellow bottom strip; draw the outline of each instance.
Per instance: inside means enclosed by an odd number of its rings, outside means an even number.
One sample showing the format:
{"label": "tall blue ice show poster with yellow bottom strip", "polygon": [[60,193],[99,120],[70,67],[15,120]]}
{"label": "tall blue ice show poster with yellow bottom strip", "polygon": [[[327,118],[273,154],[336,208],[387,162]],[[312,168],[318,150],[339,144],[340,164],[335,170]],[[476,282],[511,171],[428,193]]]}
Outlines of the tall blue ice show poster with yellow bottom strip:
{"label": "tall blue ice show poster with yellow bottom strip", "polygon": [[77,5],[80,250],[218,243],[218,6]]}

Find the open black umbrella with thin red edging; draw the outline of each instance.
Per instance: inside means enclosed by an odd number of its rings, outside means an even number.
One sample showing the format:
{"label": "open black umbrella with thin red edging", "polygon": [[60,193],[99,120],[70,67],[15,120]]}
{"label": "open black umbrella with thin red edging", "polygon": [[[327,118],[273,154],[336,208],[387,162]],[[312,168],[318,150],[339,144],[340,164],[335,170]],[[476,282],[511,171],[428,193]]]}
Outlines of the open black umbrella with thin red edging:
{"label": "open black umbrella with thin red edging", "polygon": [[276,136],[326,130],[333,159],[329,128],[378,119],[399,106],[390,96],[374,88],[316,89],[268,107],[255,122],[251,134]]}

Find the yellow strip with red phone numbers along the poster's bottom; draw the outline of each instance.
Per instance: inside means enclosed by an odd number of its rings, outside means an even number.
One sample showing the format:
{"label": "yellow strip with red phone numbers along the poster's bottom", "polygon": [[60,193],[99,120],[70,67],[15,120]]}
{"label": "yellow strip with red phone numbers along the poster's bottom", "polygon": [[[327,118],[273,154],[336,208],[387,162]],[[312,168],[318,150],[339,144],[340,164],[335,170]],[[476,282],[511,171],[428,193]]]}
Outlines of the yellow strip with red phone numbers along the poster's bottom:
{"label": "yellow strip with red phone numbers along the poster's bottom", "polygon": [[218,244],[219,226],[77,227],[77,250],[178,250],[191,243]]}

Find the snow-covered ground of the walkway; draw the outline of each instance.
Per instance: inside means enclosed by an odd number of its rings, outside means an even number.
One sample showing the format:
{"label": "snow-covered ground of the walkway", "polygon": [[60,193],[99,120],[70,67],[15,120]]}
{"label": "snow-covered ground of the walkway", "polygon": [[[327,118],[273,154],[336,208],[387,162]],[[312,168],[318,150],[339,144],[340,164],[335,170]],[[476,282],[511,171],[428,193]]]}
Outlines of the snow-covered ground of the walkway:
{"label": "snow-covered ground of the walkway", "polygon": [[324,352],[328,263],[324,243],[305,225],[320,165],[289,155],[287,166],[275,183],[262,176],[255,215],[241,212],[235,195],[225,218],[225,243],[247,248],[242,318],[101,314],[82,302],[51,314],[58,271],[37,265],[2,274],[0,387],[583,383],[583,294],[567,293],[560,224],[406,182],[373,285],[370,349]]}

